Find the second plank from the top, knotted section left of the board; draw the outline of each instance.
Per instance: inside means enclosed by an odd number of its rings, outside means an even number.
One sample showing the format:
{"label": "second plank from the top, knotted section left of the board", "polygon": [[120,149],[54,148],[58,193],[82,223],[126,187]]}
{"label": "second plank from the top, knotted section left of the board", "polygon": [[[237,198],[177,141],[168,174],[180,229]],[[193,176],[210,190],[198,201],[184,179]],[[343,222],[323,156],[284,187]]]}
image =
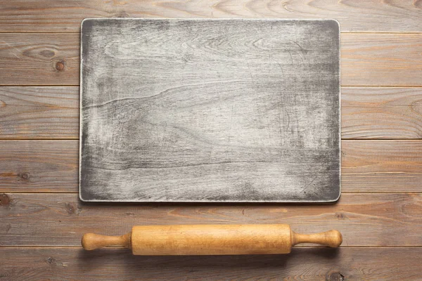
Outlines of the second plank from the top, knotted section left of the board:
{"label": "second plank from the top, knotted section left of the board", "polygon": [[0,85],[79,84],[79,34],[0,34]]}

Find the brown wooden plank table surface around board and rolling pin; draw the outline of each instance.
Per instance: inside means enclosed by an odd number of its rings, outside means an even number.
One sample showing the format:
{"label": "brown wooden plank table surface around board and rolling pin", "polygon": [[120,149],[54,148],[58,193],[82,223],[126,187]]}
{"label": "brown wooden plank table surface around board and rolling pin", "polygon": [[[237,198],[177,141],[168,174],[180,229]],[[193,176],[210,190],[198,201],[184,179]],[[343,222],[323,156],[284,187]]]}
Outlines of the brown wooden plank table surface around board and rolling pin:
{"label": "brown wooden plank table surface around board and rolling pin", "polygon": [[[0,0],[0,280],[420,280],[420,1]],[[335,18],[342,191],[336,204],[79,201],[79,28],[84,18]],[[83,251],[83,233],[134,225],[289,223],[338,229],[340,249],[284,256]]]}

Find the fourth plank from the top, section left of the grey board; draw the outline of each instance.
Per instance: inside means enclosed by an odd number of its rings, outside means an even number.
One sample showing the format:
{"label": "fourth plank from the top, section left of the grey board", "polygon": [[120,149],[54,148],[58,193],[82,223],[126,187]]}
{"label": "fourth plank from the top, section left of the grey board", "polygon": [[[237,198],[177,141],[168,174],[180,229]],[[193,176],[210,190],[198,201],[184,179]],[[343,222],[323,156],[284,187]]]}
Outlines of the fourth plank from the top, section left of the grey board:
{"label": "fourth plank from the top, section left of the grey board", "polygon": [[77,191],[77,141],[0,141],[0,190]]}

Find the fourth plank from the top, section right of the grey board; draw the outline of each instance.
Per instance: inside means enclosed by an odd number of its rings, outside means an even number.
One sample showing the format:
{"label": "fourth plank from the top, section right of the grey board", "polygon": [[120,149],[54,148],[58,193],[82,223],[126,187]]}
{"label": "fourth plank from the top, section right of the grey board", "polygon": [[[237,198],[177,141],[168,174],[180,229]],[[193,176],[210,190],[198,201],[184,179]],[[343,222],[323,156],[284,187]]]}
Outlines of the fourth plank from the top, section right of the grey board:
{"label": "fourth plank from the top, section right of the grey board", "polygon": [[422,191],[422,141],[342,144],[343,192]]}

